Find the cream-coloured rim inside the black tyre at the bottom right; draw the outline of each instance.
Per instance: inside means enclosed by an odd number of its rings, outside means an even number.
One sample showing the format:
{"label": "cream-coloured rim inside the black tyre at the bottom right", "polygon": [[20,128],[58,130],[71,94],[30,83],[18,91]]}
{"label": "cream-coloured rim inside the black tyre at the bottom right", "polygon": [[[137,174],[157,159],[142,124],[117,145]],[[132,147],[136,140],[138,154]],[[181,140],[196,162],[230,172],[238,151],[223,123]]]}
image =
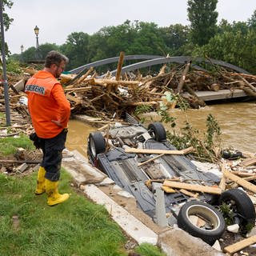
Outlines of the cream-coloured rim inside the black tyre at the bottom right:
{"label": "cream-coloured rim inside the black tyre at the bottom right", "polygon": [[220,226],[218,215],[206,206],[189,206],[186,216],[191,224],[200,230],[214,231]]}

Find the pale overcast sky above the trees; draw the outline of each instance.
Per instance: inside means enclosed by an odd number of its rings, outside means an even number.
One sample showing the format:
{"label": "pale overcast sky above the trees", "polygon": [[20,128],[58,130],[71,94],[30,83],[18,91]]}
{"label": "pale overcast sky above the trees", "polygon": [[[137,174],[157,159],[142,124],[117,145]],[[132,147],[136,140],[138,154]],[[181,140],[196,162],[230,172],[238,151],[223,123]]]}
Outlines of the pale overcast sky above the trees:
{"label": "pale overcast sky above the trees", "polygon": [[[94,34],[103,26],[126,21],[154,22],[158,26],[188,25],[187,0],[12,0],[7,13],[14,22],[5,32],[11,54],[35,46],[34,27],[39,27],[39,44],[62,45],[72,32]],[[256,0],[218,0],[218,21],[246,22],[256,10]]]}

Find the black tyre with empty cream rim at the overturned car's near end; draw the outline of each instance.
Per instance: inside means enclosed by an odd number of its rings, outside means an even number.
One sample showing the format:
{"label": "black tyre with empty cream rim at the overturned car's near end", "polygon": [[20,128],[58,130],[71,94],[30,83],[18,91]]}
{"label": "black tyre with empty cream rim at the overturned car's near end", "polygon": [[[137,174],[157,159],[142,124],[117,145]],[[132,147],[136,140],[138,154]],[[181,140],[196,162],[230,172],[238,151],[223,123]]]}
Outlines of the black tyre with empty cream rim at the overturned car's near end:
{"label": "black tyre with empty cream rim at the overturned car's near end", "polygon": [[186,202],[179,210],[178,227],[210,245],[222,237],[225,221],[222,214],[206,202]]}

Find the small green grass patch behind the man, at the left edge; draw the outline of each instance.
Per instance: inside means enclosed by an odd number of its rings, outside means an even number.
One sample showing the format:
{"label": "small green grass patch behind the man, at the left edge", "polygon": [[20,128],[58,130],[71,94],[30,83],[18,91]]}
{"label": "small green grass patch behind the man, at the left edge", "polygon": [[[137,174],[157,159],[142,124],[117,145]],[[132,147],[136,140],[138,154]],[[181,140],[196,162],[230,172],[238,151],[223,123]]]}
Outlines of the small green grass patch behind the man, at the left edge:
{"label": "small green grass patch behind the man, at the left edge", "polygon": [[18,147],[22,147],[26,150],[34,149],[33,142],[25,134],[20,134],[18,138],[0,138],[0,156],[15,154]]}

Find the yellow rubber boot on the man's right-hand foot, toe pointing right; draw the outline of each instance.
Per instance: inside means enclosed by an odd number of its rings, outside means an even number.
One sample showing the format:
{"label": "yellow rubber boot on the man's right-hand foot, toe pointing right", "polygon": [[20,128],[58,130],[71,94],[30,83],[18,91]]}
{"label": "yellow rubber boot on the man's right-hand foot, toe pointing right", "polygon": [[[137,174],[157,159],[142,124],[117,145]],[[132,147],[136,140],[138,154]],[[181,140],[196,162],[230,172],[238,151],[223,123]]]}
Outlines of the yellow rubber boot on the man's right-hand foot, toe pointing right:
{"label": "yellow rubber boot on the man's right-hand foot, toe pointing right", "polygon": [[58,194],[58,182],[46,179],[46,194],[48,195],[48,206],[54,206],[70,198],[69,194]]}

